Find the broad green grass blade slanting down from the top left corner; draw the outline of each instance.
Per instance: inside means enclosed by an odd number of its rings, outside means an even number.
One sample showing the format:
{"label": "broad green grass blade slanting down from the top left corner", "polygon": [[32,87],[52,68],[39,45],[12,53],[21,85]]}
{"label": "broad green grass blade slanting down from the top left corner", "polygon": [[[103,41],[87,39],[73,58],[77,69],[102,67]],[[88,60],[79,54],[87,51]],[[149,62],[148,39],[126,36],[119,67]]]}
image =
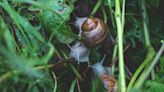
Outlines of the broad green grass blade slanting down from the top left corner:
{"label": "broad green grass blade slanting down from the top left corner", "polygon": [[18,27],[22,37],[25,40],[24,44],[21,44],[25,51],[34,56],[34,53],[38,50],[38,42],[44,42],[45,39],[41,34],[26,20],[24,17],[19,15],[6,0],[0,3],[0,6],[7,11],[10,17],[13,19],[14,23]]}

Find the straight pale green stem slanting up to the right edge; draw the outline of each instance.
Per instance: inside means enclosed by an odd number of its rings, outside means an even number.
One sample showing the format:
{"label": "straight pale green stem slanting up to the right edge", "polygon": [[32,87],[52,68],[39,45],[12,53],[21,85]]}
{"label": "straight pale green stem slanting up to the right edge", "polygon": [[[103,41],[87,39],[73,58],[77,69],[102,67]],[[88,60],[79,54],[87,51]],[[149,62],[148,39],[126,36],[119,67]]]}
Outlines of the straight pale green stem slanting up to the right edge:
{"label": "straight pale green stem slanting up to the right edge", "polygon": [[134,87],[136,89],[138,89],[138,88],[140,88],[142,86],[143,82],[148,77],[148,75],[150,74],[151,70],[156,65],[158,60],[160,59],[160,56],[162,55],[163,51],[164,51],[164,43],[162,44],[162,46],[161,46],[160,50],[158,51],[157,55],[155,56],[153,62],[146,67],[146,69],[143,71],[141,76],[138,78],[138,81],[134,85]]}

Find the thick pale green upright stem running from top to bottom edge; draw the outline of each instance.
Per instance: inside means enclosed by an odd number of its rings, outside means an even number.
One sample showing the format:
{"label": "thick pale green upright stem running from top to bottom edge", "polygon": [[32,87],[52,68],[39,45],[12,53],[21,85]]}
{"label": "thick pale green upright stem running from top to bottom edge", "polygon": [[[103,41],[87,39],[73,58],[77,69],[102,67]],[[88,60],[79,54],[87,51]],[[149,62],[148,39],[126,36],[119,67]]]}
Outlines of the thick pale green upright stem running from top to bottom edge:
{"label": "thick pale green upright stem running from top to bottom edge", "polygon": [[120,1],[115,0],[115,19],[118,36],[118,55],[119,55],[119,88],[121,92],[126,92],[125,69],[124,69],[124,52],[123,52],[123,28],[121,23]]}

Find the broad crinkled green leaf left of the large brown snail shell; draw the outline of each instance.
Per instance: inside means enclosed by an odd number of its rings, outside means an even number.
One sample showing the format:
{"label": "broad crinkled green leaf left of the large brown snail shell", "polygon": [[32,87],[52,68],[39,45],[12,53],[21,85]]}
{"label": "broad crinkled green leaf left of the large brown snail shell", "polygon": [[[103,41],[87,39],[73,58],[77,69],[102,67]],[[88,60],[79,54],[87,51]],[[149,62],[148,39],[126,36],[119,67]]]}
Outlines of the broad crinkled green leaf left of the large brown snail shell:
{"label": "broad crinkled green leaf left of the large brown snail shell", "polygon": [[[52,32],[61,43],[71,43],[78,38],[77,35],[71,32],[70,28],[65,24],[69,20],[70,13],[73,10],[72,4],[70,6],[64,3],[64,0],[60,3],[63,3],[64,6],[59,6],[58,0],[51,0],[46,3],[49,6],[49,9],[43,9],[40,14],[40,19],[43,21],[44,26]],[[58,12],[58,9],[64,8],[62,12]],[[52,11],[53,10],[53,11]]]}

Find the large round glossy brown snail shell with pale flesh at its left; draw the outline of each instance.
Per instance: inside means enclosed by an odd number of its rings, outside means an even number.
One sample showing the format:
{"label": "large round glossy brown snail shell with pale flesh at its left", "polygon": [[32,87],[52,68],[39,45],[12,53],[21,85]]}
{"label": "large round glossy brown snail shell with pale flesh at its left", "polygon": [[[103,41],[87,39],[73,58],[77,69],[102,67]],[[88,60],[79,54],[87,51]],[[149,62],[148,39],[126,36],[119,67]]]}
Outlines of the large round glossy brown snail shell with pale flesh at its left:
{"label": "large round glossy brown snail shell with pale flesh at its left", "polygon": [[75,26],[79,28],[79,36],[88,48],[102,43],[108,35],[107,25],[98,18],[76,18]]}

